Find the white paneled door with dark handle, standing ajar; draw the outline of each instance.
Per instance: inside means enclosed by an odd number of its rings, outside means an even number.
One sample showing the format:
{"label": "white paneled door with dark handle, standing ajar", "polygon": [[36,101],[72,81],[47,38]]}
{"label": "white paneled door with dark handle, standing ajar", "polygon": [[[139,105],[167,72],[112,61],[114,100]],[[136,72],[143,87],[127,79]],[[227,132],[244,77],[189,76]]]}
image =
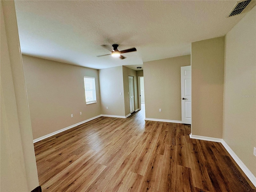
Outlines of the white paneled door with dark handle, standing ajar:
{"label": "white paneled door with dark handle, standing ajar", "polygon": [[181,121],[191,124],[191,66],[180,68],[181,72]]}

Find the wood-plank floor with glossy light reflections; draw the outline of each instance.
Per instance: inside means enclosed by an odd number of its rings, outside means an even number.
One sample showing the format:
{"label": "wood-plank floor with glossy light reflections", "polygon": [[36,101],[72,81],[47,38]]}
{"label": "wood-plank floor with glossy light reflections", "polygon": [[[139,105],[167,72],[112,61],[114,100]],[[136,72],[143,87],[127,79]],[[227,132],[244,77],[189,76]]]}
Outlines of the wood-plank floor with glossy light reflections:
{"label": "wood-plank floor with glossy light reflections", "polygon": [[100,117],[35,143],[42,191],[256,192],[222,144],[144,118]]}

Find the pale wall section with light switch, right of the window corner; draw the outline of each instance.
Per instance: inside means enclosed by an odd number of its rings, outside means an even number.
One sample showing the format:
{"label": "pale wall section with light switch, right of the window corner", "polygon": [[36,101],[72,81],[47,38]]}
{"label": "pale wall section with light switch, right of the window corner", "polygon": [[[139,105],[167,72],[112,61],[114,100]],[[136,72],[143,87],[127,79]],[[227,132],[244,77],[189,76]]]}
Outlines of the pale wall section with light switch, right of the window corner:
{"label": "pale wall section with light switch, right of the window corner", "polygon": [[125,116],[122,66],[99,70],[99,78],[102,114]]}

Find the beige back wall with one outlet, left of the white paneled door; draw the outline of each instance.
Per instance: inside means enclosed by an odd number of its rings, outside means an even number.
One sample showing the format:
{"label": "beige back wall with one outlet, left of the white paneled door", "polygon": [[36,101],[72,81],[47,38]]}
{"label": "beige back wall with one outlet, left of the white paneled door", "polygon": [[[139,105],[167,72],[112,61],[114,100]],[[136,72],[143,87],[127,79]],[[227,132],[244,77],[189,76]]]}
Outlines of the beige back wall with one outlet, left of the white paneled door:
{"label": "beige back wall with one outlet, left of the white paneled door", "polygon": [[188,65],[190,55],[143,63],[146,118],[181,120],[180,67]]}

